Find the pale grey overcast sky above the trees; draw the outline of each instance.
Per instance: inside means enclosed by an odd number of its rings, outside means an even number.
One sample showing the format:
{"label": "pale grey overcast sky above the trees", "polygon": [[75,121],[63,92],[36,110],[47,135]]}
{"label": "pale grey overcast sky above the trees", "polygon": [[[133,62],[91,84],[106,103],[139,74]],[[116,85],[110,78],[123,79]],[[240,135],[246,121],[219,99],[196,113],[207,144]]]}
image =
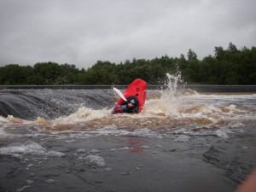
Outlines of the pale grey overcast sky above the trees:
{"label": "pale grey overcast sky above the trees", "polygon": [[91,67],[256,46],[255,0],[0,0],[0,66]]}

